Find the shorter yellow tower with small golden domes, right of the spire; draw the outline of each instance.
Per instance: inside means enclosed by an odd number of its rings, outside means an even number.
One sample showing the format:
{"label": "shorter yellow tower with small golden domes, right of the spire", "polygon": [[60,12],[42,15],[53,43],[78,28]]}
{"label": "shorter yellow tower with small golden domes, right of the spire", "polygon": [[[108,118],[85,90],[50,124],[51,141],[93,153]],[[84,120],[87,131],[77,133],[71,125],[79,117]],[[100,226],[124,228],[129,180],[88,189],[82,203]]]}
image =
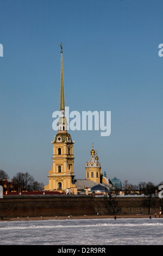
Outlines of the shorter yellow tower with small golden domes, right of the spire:
{"label": "shorter yellow tower with small golden domes, right of the spire", "polygon": [[95,150],[91,150],[91,159],[86,162],[86,180],[92,180],[97,183],[101,183],[102,172],[101,172],[101,163],[98,161],[98,156],[95,155]]}

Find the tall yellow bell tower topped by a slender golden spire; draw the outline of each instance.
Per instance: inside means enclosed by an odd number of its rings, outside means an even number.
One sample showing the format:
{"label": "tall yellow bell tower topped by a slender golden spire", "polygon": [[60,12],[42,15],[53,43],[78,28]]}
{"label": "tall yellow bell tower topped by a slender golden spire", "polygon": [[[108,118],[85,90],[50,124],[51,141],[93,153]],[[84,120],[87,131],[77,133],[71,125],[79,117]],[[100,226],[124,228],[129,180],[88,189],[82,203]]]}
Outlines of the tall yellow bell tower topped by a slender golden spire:
{"label": "tall yellow bell tower topped by a slender golden spire", "polygon": [[74,184],[73,170],[73,144],[71,135],[67,132],[67,118],[65,117],[65,96],[64,96],[64,71],[61,47],[61,79],[60,79],[60,117],[58,121],[58,133],[54,137],[53,144],[53,165],[49,170],[49,184],[45,190],[66,190],[76,188]]}

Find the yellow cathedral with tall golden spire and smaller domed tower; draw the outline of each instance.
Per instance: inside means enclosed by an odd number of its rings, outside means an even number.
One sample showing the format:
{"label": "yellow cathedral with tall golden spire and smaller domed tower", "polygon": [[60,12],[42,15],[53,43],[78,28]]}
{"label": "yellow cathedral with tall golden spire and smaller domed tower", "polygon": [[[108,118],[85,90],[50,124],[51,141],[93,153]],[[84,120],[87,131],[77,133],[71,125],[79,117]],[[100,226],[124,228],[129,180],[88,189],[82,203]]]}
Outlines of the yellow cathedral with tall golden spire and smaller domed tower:
{"label": "yellow cathedral with tall golden spire and smaller domed tower", "polygon": [[71,135],[67,132],[67,119],[65,116],[65,95],[64,95],[64,71],[61,47],[61,76],[60,76],[60,117],[58,120],[58,133],[54,137],[53,144],[53,164],[48,173],[48,185],[45,190],[58,190],[66,193],[88,193],[91,187],[101,184],[109,187],[111,181],[102,174],[101,163],[96,151],[90,151],[90,160],[86,162],[86,179],[75,179],[74,157]]}

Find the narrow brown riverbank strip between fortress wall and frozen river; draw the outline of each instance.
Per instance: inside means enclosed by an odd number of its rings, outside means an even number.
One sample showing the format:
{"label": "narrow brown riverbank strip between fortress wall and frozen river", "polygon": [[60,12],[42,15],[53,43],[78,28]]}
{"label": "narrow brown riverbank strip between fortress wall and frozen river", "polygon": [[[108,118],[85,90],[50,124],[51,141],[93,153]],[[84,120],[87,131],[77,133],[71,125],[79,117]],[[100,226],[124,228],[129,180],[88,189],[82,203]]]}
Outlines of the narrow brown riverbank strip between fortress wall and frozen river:
{"label": "narrow brown riverbank strip between fortress wall and frozen river", "polygon": [[[136,214],[136,215],[116,215],[118,218],[149,218],[150,215]],[[115,215],[74,215],[71,216],[71,220],[81,220],[81,219],[100,219],[100,218],[112,218],[114,219]],[[151,215],[152,218],[155,218],[154,215]],[[160,216],[162,218],[162,216]],[[156,218],[159,218],[159,215],[156,215]],[[0,221],[45,221],[45,220],[68,220],[68,216],[52,216],[52,217],[17,217],[17,218],[1,218]]]}

